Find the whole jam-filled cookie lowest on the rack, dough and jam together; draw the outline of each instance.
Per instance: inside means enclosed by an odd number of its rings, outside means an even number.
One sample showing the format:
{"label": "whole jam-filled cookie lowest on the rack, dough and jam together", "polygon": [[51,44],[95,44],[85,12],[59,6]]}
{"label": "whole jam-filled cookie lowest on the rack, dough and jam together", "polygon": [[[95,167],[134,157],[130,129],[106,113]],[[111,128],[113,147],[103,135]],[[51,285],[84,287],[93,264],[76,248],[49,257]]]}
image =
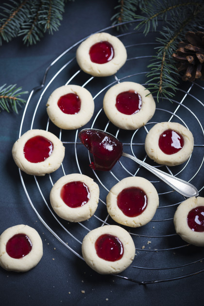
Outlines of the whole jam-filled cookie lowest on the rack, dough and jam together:
{"label": "whole jam-filled cookie lowest on the rack, dough and jam together", "polygon": [[122,272],[131,265],[135,252],[131,235],[117,225],[96,228],[82,242],[86,264],[100,274]]}

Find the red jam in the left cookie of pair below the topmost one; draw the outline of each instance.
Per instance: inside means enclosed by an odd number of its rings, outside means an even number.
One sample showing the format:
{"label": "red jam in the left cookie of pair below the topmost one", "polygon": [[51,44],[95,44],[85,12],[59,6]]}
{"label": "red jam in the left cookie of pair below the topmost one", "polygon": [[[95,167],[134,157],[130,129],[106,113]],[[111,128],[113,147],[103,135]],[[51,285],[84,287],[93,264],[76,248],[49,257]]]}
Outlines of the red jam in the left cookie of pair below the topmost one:
{"label": "red jam in the left cookie of pair below the topmost one", "polygon": [[70,92],[61,96],[57,105],[65,114],[74,115],[80,111],[81,100],[76,93]]}

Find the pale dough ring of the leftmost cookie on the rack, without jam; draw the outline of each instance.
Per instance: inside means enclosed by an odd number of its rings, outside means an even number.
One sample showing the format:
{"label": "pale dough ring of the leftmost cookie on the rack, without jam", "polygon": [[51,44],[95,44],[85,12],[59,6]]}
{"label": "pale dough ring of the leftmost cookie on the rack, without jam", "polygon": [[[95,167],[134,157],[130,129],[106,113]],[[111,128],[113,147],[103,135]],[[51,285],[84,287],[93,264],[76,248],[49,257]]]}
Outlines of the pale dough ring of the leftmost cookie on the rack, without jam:
{"label": "pale dough ring of the leftmost cookie on the rack, without jam", "polygon": [[[24,146],[35,136],[42,136],[53,144],[51,155],[42,162],[29,162],[24,155]],[[27,174],[44,176],[57,170],[65,156],[65,147],[51,132],[42,129],[32,129],[23,134],[13,145],[12,155],[17,166]]]}

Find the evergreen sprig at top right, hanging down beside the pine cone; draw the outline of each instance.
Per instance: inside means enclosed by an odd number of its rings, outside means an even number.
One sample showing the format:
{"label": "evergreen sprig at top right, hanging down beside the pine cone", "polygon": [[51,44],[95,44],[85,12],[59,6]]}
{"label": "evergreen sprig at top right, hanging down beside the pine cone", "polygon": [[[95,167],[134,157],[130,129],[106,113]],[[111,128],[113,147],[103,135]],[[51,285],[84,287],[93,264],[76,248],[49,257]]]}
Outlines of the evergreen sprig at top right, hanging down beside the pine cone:
{"label": "evergreen sprig at top right, hanging down beside the pine cone", "polygon": [[[126,1],[128,0],[123,0]],[[138,5],[138,1],[133,0],[128,4],[134,7]],[[145,1],[145,5],[140,6],[140,9],[142,15],[126,15],[125,19],[117,19],[117,22],[140,19],[135,30],[143,29],[144,35],[147,35],[150,31],[158,31],[158,21],[163,20],[162,30],[159,29],[156,38],[160,47],[155,48],[156,56],[148,66],[150,72],[147,73],[147,83],[148,89],[157,93],[157,100],[159,97],[170,99],[179,84],[179,74],[176,72],[172,54],[187,31],[198,31],[202,28],[204,3],[203,0],[149,0]]]}

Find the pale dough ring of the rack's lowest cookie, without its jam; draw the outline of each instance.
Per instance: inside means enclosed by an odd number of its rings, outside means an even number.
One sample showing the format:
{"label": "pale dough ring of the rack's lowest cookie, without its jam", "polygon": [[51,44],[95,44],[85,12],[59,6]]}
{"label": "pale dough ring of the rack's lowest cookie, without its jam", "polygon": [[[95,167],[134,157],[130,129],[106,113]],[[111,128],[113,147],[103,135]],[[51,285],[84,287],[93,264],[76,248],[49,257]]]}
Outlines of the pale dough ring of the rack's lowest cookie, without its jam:
{"label": "pale dough ring of the rack's lowest cookie, without its jam", "polygon": [[[115,236],[123,246],[123,255],[119,260],[108,261],[97,255],[96,240],[104,234]],[[104,225],[90,231],[83,239],[82,254],[86,264],[100,274],[119,273],[129,267],[135,257],[135,244],[131,235],[117,225]]]}

